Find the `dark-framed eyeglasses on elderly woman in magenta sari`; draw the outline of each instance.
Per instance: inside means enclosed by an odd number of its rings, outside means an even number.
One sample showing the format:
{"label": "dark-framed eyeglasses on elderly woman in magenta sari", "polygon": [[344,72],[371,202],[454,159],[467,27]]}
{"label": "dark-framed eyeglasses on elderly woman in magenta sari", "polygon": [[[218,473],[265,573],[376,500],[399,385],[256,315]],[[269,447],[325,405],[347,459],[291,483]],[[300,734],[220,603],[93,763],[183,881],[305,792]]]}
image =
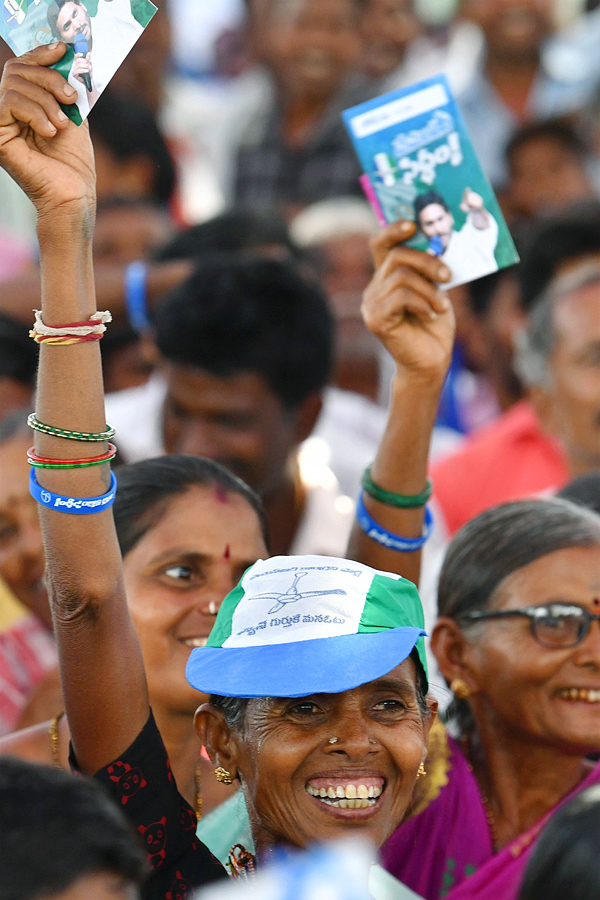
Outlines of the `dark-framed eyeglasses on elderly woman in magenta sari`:
{"label": "dark-framed eyeglasses on elderly woman in magenta sari", "polygon": [[574,603],[548,603],[546,606],[524,606],[497,612],[470,612],[459,616],[471,622],[486,619],[508,619],[526,616],[531,634],[543,647],[576,647],[588,636],[592,622],[600,624],[600,613],[594,614]]}

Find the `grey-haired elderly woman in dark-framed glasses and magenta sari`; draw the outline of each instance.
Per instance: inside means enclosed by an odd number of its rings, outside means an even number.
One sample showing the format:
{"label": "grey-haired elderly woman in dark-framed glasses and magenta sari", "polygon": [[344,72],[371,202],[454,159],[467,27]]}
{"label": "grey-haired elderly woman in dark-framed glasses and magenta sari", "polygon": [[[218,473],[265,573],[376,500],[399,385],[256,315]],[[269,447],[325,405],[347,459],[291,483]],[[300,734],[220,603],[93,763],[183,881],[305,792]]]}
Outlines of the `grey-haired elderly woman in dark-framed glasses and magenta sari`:
{"label": "grey-haired elderly woman in dark-framed glasses and magenta sari", "polygon": [[600,517],[559,499],[482,513],[438,603],[449,734],[432,730],[384,865],[429,900],[516,900],[546,822],[600,783]]}

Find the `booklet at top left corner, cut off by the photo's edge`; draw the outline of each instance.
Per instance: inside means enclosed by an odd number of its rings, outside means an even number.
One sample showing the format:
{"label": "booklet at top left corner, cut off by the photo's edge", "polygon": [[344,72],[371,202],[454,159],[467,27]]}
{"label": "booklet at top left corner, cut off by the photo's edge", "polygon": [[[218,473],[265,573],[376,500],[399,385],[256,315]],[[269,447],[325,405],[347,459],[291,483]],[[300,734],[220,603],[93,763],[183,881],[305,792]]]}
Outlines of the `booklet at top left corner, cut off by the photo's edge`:
{"label": "booklet at top left corner, cut off by the photo's edge", "polygon": [[53,67],[77,91],[80,125],[156,12],[150,0],[0,0],[0,35],[17,56],[65,41]]}

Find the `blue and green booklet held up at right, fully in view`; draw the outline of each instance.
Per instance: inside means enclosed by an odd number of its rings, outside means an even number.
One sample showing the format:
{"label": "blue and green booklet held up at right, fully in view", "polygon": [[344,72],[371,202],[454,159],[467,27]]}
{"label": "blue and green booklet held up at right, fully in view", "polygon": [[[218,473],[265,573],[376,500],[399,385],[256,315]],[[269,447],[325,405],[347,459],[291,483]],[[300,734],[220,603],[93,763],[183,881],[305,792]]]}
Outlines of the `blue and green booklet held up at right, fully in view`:
{"label": "blue and green booklet held up at right, fully in view", "polygon": [[456,287],[519,261],[444,75],[343,113],[382,224],[411,219],[408,246],[438,256]]}

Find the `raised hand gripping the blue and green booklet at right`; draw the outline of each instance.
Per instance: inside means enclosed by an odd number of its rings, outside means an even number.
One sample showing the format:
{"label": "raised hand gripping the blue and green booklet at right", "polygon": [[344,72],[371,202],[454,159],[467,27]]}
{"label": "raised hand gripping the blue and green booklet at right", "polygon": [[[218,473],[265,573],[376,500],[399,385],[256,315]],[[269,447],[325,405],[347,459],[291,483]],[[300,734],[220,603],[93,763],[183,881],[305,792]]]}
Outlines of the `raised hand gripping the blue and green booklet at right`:
{"label": "raised hand gripping the blue and green booklet at right", "polygon": [[375,275],[365,291],[365,325],[392,354],[399,374],[443,380],[454,344],[454,310],[435,282],[451,279],[427,253],[398,246],[413,236],[412,222],[388,225],[371,241]]}

